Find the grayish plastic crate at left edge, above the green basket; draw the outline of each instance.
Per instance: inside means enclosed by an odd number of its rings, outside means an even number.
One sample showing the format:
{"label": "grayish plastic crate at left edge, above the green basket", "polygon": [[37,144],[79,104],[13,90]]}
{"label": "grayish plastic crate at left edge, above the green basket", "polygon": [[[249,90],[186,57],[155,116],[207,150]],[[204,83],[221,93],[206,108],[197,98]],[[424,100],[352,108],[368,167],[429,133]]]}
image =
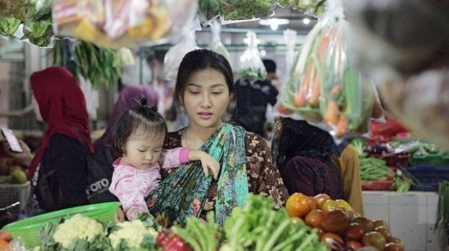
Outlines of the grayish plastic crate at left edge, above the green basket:
{"label": "grayish plastic crate at left edge, above the green basket", "polygon": [[20,209],[25,209],[30,198],[31,184],[0,184],[0,207],[9,206],[14,202],[20,202]]}

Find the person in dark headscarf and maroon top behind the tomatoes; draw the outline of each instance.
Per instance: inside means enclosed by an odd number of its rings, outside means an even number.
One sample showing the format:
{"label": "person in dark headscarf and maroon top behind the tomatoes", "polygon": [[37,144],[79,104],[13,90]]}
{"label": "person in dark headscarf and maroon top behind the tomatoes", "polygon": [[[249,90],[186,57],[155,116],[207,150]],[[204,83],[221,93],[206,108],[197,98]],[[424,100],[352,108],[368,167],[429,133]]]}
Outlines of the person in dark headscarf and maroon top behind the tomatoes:
{"label": "person in dark headscarf and maroon top behind the tomatoes", "polygon": [[344,197],[338,169],[340,152],[325,130],[302,120],[278,120],[272,151],[290,194],[327,193],[333,200]]}

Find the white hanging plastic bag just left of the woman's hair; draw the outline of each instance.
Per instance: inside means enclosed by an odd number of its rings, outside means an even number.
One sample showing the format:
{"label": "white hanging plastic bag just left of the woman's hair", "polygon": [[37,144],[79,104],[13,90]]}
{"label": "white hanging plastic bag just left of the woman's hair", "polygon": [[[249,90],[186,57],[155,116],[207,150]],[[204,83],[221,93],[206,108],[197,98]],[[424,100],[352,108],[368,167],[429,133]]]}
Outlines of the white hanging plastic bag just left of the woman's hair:
{"label": "white hanging plastic bag just left of the woman's hair", "polygon": [[181,64],[182,58],[194,49],[199,49],[195,42],[195,32],[188,32],[173,47],[171,47],[164,57],[164,80],[175,82],[177,70]]}

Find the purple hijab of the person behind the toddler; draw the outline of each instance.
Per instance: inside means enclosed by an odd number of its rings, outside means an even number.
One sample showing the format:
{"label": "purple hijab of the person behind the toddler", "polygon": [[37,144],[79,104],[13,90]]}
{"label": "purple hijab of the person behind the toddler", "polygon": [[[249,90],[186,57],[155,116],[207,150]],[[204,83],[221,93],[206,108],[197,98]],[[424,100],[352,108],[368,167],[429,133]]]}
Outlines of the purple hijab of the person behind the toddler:
{"label": "purple hijab of the person behind the toddler", "polygon": [[94,143],[96,152],[109,148],[106,144],[112,143],[112,134],[118,118],[126,110],[129,110],[134,106],[138,106],[138,98],[142,96],[148,99],[148,104],[150,106],[155,106],[157,101],[159,101],[159,95],[157,92],[153,91],[149,87],[130,84],[123,88],[118,96],[116,104],[114,105],[111,117],[109,117],[105,133]]}

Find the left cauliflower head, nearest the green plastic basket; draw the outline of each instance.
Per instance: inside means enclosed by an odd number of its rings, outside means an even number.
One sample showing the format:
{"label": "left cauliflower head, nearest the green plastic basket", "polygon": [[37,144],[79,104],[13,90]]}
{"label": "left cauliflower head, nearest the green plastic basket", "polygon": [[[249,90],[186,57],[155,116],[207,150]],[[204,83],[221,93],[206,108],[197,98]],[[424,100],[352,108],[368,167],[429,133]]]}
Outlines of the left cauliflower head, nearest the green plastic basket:
{"label": "left cauliflower head, nearest the green plastic basket", "polygon": [[54,232],[54,241],[61,243],[63,248],[69,248],[75,239],[93,240],[103,231],[103,226],[94,219],[77,214],[59,225]]}

